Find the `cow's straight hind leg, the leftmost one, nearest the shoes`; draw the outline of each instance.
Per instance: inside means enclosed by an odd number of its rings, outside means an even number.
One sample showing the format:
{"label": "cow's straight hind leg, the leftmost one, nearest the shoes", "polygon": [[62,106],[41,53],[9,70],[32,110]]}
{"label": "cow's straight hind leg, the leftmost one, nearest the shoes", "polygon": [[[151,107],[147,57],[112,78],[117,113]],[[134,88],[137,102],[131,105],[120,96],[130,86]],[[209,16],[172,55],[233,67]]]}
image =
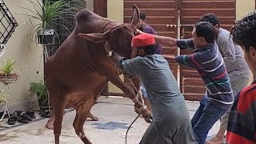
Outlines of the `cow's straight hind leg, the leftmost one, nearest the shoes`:
{"label": "cow's straight hind leg, the leftmost one, nearest the shoes", "polygon": [[59,136],[62,131],[62,118],[64,115],[64,109],[66,106],[66,96],[62,94],[62,91],[50,91],[50,101],[52,102],[54,109],[54,139],[55,144],[59,144]]}

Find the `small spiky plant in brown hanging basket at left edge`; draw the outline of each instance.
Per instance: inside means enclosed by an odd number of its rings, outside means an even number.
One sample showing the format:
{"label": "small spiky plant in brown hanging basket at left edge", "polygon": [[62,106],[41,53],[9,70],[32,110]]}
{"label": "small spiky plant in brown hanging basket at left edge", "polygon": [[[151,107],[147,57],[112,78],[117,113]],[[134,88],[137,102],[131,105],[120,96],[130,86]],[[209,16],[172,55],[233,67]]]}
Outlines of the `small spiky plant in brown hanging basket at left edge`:
{"label": "small spiky plant in brown hanging basket at left edge", "polygon": [[14,71],[20,73],[18,69],[14,67],[14,64],[17,62],[17,60],[14,59],[5,59],[3,58],[3,64],[0,65],[0,82],[4,84],[10,84],[13,82],[16,82],[18,79],[18,74],[14,73]]}

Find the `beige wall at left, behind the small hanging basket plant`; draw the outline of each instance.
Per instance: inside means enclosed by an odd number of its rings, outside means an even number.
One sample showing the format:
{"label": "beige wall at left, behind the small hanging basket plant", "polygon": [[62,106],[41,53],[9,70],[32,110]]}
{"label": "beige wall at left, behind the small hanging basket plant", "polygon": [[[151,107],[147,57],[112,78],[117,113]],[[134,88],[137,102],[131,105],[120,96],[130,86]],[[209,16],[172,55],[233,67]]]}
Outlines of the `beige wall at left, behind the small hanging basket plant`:
{"label": "beige wall at left, behind the small hanging basket plant", "polygon": [[[6,54],[0,58],[0,64],[2,65],[3,58],[14,58],[18,60],[16,66],[21,71],[18,81],[10,84],[7,101],[10,109],[26,109],[29,106],[28,102],[31,100],[28,93],[30,82],[35,82],[42,78],[42,63],[39,65],[42,47],[30,45],[32,47],[32,50],[30,50],[27,45],[26,34],[31,24],[29,19],[22,15],[28,14],[28,12],[20,6],[32,9],[30,3],[21,0],[8,0],[4,2],[6,2],[6,6],[18,22],[18,27],[6,43]],[[36,73],[37,71],[39,71],[39,74]],[[1,84],[0,86],[3,85]]]}

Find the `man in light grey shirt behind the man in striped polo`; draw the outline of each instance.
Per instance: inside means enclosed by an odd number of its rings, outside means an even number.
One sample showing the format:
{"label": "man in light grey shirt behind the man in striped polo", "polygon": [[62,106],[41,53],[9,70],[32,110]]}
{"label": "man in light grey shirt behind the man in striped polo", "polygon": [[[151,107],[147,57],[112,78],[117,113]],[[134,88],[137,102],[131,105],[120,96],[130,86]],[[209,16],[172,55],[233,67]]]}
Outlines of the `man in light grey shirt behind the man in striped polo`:
{"label": "man in light grey shirt behind the man in striped polo", "polygon": [[[215,41],[218,45],[218,50],[222,54],[235,97],[240,90],[247,86],[250,78],[250,70],[245,58],[243,58],[241,46],[234,44],[233,40],[230,38],[230,32],[221,27],[218,17],[215,14],[204,14],[199,21],[210,22],[214,26]],[[207,144],[225,143],[224,135],[230,114],[229,112],[230,111],[222,116],[218,133],[214,138],[206,142]]]}

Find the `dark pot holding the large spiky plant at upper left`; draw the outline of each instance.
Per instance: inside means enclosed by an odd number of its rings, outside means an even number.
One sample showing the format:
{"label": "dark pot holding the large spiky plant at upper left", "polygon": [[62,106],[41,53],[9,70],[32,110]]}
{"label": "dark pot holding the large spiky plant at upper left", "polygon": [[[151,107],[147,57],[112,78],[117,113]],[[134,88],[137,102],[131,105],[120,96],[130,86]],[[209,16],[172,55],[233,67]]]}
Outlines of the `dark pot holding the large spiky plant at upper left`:
{"label": "dark pot holding the large spiky plant at upper left", "polygon": [[54,30],[38,30],[38,43],[39,44],[53,44],[54,43]]}

